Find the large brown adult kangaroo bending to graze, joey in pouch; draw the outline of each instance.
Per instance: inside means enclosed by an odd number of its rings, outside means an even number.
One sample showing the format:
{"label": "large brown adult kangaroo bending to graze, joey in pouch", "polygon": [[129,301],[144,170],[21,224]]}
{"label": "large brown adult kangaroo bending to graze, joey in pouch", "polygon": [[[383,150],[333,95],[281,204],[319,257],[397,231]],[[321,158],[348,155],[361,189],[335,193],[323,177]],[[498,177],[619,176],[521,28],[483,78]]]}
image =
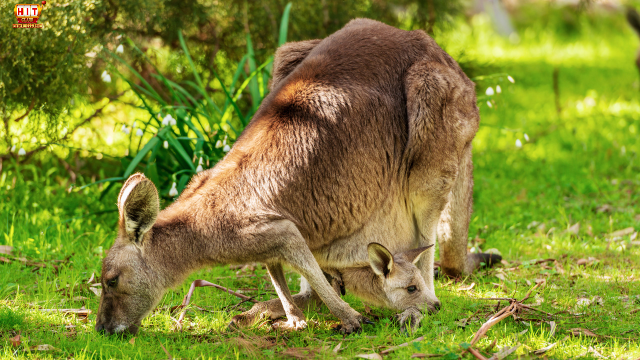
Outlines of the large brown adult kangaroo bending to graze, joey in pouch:
{"label": "large brown adult kangaroo bending to graze, joey in pouch", "polygon": [[[479,122],[474,84],[429,36],[353,20],[323,40],[281,47],[271,89],[227,156],[166,209],[159,211],[143,175],[125,182],[96,330],[135,333],[166,289],[191,272],[257,261],[267,265],[286,327],[306,322],[283,264],[350,333],[367,319],[322,269],[369,266],[392,280],[403,268],[393,264],[415,261],[421,277],[402,291],[418,292],[421,306],[436,310],[436,233],[444,273],[469,273],[484,260],[466,249]],[[341,277],[356,289],[357,278]],[[397,291],[392,285],[368,293]]]}

